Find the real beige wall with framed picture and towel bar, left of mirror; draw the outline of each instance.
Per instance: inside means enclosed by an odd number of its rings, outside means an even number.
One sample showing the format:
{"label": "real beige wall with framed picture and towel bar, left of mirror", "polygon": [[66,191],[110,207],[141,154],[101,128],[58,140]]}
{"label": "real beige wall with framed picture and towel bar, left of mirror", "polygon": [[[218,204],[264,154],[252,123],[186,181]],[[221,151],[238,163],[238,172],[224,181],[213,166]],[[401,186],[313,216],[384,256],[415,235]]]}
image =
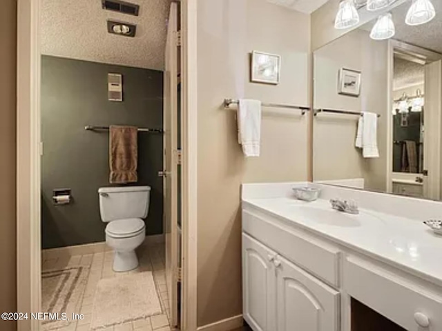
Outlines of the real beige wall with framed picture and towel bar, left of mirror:
{"label": "real beige wall with framed picture and towel bar, left of mirror", "polygon": [[[198,1],[198,325],[242,313],[240,185],[307,179],[307,116],[265,109],[245,159],[224,98],[309,104],[309,16],[265,0]],[[281,82],[249,82],[249,52],[282,56]]]}

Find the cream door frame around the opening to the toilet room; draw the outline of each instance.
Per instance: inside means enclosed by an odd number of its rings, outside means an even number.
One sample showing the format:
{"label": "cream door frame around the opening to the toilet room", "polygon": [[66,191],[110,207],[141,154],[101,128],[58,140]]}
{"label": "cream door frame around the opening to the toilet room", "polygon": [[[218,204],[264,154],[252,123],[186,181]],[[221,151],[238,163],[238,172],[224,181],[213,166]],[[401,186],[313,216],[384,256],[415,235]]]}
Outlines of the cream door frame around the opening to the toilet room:
{"label": "cream door frame around the opening to the toilet room", "polygon": [[[40,10],[17,1],[17,311],[41,311]],[[197,326],[197,0],[182,0],[182,330]],[[18,331],[39,323],[18,321]]]}

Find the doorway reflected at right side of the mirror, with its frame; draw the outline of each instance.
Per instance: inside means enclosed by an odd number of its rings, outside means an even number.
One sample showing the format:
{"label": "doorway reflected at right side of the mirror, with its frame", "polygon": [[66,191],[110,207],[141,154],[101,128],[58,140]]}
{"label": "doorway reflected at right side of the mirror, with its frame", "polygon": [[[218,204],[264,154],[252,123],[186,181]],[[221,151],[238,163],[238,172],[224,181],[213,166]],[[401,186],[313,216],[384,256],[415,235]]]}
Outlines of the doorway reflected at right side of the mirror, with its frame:
{"label": "doorway reflected at right side of the mirror, with its frame", "polygon": [[388,192],[439,199],[441,54],[390,41]]}

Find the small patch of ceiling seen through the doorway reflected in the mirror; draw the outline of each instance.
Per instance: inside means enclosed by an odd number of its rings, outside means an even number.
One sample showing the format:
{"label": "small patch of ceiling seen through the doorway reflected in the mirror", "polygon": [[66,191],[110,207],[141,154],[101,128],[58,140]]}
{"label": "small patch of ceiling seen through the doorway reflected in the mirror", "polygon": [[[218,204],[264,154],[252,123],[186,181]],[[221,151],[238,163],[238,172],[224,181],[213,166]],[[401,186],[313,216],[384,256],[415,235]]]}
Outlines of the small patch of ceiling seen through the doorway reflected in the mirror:
{"label": "small patch of ceiling seen through the doorway reflected in the mirror", "polygon": [[394,57],[393,90],[422,84],[425,80],[424,66]]}

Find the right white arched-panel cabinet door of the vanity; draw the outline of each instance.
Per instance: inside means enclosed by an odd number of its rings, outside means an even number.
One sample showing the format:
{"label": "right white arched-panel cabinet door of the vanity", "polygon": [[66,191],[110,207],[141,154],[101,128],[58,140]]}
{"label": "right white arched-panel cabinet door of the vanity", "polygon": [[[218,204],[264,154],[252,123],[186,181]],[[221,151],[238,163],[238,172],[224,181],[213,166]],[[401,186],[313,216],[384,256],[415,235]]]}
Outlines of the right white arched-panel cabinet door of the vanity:
{"label": "right white arched-panel cabinet door of the vanity", "polygon": [[275,265],[278,331],[338,330],[339,293],[282,257]]}

